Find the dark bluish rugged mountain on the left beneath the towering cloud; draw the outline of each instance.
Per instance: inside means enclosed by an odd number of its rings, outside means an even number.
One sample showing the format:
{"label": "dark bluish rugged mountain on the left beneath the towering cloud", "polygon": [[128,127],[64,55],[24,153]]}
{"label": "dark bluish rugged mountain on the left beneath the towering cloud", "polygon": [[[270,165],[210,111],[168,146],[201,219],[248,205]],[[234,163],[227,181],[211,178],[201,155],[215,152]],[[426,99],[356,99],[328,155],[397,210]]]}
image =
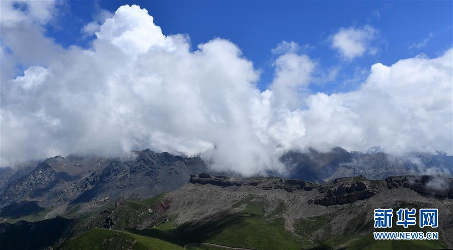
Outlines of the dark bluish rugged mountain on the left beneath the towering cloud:
{"label": "dark bluish rugged mountain on the left beneath the towering cloud", "polygon": [[147,197],[171,191],[186,184],[190,173],[207,171],[199,157],[149,149],[134,154],[127,159],[96,155],[48,158],[0,189],[0,211],[23,200],[36,201],[41,207],[81,203],[91,209],[124,193]]}

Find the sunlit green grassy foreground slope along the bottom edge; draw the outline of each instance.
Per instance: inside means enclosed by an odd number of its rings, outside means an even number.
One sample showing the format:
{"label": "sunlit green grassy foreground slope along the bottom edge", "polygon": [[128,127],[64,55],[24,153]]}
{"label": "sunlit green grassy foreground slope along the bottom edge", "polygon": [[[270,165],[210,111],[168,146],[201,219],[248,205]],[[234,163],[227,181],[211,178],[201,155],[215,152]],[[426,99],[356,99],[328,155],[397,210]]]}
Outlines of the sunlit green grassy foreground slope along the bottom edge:
{"label": "sunlit green grassy foreground slope along the bottom edge", "polygon": [[[307,219],[301,219],[295,224],[295,233],[284,229],[284,221],[278,215],[284,209],[279,205],[276,211],[269,213],[267,219],[276,217],[271,221],[266,220],[262,204],[253,202],[248,197],[233,207],[245,205],[245,209],[233,214],[222,216],[216,220],[200,224],[184,224],[175,228],[172,222],[166,222],[152,229],[131,230],[136,234],[148,237],[155,237],[178,245],[186,245],[190,242],[210,242],[232,247],[244,247],[251,249],[442,249],[445,244],[442,240],[398,240],[385,241],[374,240],[372,233],[372,222],[366,220],[372,216],[368,212],[359,212],[346,209],[338,214],[327,214]],[[394,207],[415,207],[426,206],[426,204],[401,203]],[[365,209],[367,210],[367,209]],[[370,210],[371,211],[371,210]],[[345,221],[345,233],[337,235],[330,225],[336,216],[342,213],[354,214],[349,221]],[[271,216],[272,215],[272,216]],[[394,218],[396,219],[396,218]],[[395,225],[395,221],[394,221]],[[413,228],[419,230],[420,228]],[[401,226],[394,226],[393,231],[405,231]],[[425,230],[427,229],[425,228]],[[318,235],[313,244],[310,240],[312,234]],[[319,236],[320,235],[320,236]],[[441,236],[440,236],[441,237]],[[211,249],[215,246],[188,244],[189,249]]]}

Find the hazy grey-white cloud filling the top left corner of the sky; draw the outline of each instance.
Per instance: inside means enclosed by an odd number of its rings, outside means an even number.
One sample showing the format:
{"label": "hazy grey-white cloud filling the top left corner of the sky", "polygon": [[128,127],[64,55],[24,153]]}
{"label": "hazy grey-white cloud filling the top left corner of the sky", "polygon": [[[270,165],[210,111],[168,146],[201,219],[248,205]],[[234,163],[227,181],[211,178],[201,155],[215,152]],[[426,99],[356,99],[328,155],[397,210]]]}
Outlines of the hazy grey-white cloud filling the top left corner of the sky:
{"label": "hazy grey-white cloud filling the top left corner of the sky", "polygon": [[12,73],[16,64],[48,66],[58,60],[63,49],[44,36],[55,10],[54,1],[0,1],[2,81],[17,73]]}

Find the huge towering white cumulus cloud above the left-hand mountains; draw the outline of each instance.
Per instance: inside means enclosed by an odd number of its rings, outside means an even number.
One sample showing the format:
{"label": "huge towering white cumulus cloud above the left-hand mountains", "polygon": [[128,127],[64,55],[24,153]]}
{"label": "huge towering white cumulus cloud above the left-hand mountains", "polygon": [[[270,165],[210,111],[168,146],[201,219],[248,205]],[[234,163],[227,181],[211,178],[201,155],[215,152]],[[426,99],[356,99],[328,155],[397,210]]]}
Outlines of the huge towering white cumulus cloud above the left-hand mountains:
{"label": "huge towering white cumulus cloud above the left-hand mountains", "polygon": [[91,49],[70,47],[2,82],[2,165],[145,147],[204,153],[244,174],[276,165],[251,126],[258,72],[227,40],[198,48],[163,35],[146,10],[120,7]]}

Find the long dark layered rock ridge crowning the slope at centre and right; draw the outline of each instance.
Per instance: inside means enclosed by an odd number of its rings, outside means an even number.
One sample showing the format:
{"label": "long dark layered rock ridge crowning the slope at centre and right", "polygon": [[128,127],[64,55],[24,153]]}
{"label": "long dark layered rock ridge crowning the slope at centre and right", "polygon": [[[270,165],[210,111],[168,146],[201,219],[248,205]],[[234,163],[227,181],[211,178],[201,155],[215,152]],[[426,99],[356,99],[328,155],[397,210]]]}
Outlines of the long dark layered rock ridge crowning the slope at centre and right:
{"label": "long dark layered rock ridge crowning the slope at centre and right", "polygon": [[[406,188],[421,195],[430,195],[439,198],[453,198],[453,179],[442,176],[392,176],[385,180],[367,180],[364,177],[336,178],[322,185],[312,182],[286,178],[248,178],[240,179],[226,176],[211,176],[206,173],[190,175],[189,183],[201,185],[253,186],[262,190],[283,189],[287,192],[296,190],[319,192],[314,199],[308,202],[323,206],[352,203],[364,200],[375,195],[378,186],[386,185],[388,189]],[[434,186],[434,184],[436,186]]]}

